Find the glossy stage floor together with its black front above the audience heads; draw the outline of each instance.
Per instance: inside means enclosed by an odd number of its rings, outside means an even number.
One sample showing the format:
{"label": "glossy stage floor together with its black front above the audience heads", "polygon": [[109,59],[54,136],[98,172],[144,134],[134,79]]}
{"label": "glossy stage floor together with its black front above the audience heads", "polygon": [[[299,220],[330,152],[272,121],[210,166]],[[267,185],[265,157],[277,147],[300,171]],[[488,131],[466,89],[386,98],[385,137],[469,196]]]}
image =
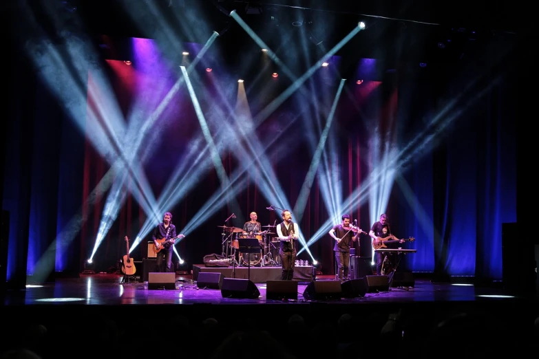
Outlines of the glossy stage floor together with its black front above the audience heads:
{"label": "glossy stage floor together with its black front above the audience heads", "polygon": [[[200,270],[218,273],[231,270],[203,268],[202,265],[196,268],[199,268],[199,276],[202,273]],[[310,270],[307,267],[302,269],[304,271],[301,272]],[[253,279],[259,281],[262,280],[260,270],[266,274],[278,272],[280,268],[251,270],[251,274],[254,273]],[[236,274],[240,272],[243,273],[238,271]],[[289,326],[291,318],[297,320],[297,316],[306,325],[302,331],[306,337],[301,340],[310,338],[315,339],[318,345],[330,345],[330,334],[321,330],[337,328],[339,318],[344,315],[357,320],[355,331],[370,331],[374,336],[380,332],[388,318],[398,315],[405,339],[413,343],[408,346],[413,350],[408,354],[402,352],[401,357],[415,358],[417,349],[424,345],[421,344],[425,341],[423,338],[430,336],[437,323],[453,314],[465,312],[480,315],[480,318],[494,318],[498,326],[489,325],[488,333],[491,333],[489,330],[494,331],[494,328],[498,335],[518,333],[519,338],[527,343],[531,342],[528,334],[533,331],[533,320],[539,315],[537,298],[512,295],[499,287],[478,287],[467,282],[433,283],[428,279],[415,278],[413,283],[408,283],[413,285],[411,287],[390,286],[383,291],[361,293],[352,298],[341,298],[340,295],[331,299],[324,296],[321,299],[307,298],[307,288],[313,287],[315,283],[323,284],[326,289],[339,287],[340,283],[334,280],[335,276],[324,275],[317,276],[316,281],[295,281],[297,299],[275,300],[268,298],[269,283],[253,284],[260,293],[255,298],[233,298],[229,294],[224,295],[223,290],[199,286],[200,283],[191,276],[173,274],[173,279],[173,289],[151,290],[144,282],[134,280],[123,283],[123,276],[118,274],[81,274],[78,278],[56,278],[51,283],[27,285],[24,290],[7,290],[3,293],[3,306],[0,309],[3,322],[12,323],[10,330],[13,340],[7,342],[16,343],[19,338],[25,338],[23,333],[28,332],[25,326],[33,324],[43,325],[51,337],[61,340],[92,337],[103,330],[118,333],[116,340],[113,340],[116,342],[142,337],[147,340],[156,330],[156,325],[163,323],[171,329],[173,336],[180,338],[183,346],[196,346],[197,358],[211,358],[216,345],[235,331],[252,334],[267,332],[273,338],[280,338],[283,326]],[[211,325],[212,322],[208,321],[210,318],[219,323],[220,331],[213,345],[208,346],[209,334],[203,328]],[[157,322],[157,319],[162,321]],[[486,333],[482,322],[475,323],[479,326],[477,333]],[[509,332],[499,329],[499,325]],[[514,331],[513,328],[518,330]],[[293,337],[297,338],[295,340],[300,340],[298,335],[294,334]],[[234,348],[238,350],[244,346],[240,343]],[[94,349],[98,350],[98,347]],[[156,348],[149,345],[149,342],[136,349],[138,347],[129,348],[132,358],[155,355]],[[52,344],[54,353],[58,348],[58,345]],[[123,352],[124,349],[122,346],[118,350]],[[253,357],[257,356],[254,350]],[[312,351],[316,352],[317,349],[312,347]],[[310,352],[310,357],[315,358],[313,352]],[[94,358],[96,353],[89,351],[86,354],[88,358]]]}

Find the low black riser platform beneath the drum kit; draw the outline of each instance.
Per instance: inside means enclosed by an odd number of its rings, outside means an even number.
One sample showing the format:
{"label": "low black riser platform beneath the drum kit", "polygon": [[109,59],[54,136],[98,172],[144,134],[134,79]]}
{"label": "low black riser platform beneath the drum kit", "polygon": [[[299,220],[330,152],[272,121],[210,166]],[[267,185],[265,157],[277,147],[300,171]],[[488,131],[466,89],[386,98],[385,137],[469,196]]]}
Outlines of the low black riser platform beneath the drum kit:
{"label": "low black riser platform beneath the drum kit", "polygon": [[[246,267],[236,267],[235,276],[232,267],[206,267],[204,264],[193,264],[193,281],[198,280],[198,273],[213,272],[221,273],[224,278],[251,279],[253,283],[266,283],[266,281],[278,281],[282,279],[281,267],[251,267],[250,278]],[[295,281],[313,281],[313,266],[296,267],[294,269]]]}

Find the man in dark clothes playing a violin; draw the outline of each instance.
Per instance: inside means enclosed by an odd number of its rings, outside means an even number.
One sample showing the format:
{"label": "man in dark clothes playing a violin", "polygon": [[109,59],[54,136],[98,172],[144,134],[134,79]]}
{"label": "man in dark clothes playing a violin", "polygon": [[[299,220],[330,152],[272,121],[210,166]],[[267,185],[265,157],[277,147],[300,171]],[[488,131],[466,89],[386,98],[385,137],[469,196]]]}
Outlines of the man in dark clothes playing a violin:
{"label": "man in dark clothes playing a violin", "polygon": [[350,269],[350,243],[357,241],[360,233],[365,233],[357,226],[350,224],[350,216],[343,215],[342,223],[333,226],[328,232],[335,239],[333,251],[335,252],[335,261],[337,261],[337,270],[339,281],[348,281],[348,271]]}

